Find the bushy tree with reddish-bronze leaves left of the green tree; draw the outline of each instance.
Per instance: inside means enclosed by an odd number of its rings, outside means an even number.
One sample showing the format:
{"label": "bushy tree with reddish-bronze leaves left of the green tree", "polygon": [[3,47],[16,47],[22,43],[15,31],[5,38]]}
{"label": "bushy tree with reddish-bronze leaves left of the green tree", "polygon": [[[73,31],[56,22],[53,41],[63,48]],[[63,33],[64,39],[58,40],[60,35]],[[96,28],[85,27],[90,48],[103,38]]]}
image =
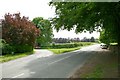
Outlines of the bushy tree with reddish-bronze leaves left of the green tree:
{"label": "bushy tree with reddish-bronze leaves left of the green tree", "polygon": [[5,14],[2,21],[2,39],[10,45],[34,46],[40,30],[27,17],[20,17],[20,13]]}

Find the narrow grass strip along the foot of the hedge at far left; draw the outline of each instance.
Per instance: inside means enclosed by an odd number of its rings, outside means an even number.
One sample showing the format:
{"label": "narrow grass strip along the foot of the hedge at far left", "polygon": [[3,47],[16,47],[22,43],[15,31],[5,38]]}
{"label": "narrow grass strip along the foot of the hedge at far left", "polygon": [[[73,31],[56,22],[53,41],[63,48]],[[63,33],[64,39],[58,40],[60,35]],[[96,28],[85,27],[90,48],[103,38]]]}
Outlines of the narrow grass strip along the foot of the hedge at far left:
{"label": "narrow grass strip along the foot of the hedge at far left", "polygon": [[25,57],[25,56],[28,56],[28,55],[33,54],[33,53],[34,53],[34,51],[26,52],[26,53],[17,53],[14,55],[12,55],[12,54],[2,55],[2,56],[0,56],[0,63],[14,60],[14,59],[21,58],[21,57]]}

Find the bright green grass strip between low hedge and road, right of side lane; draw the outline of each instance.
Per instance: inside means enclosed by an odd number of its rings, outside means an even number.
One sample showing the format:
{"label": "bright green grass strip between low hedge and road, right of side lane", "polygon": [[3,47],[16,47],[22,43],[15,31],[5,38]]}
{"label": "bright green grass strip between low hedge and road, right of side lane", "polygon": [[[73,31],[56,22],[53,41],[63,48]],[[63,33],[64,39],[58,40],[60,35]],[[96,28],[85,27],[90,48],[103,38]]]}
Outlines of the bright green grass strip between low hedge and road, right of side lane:
{"label": "bright green grass strip between low hedge and road, right of side lane", "polygon": [[61,48],[61,49],[48,49],[48,50],[52,51],[55,54],[61,54],[61,53],[70,52],[70,51],[74,51],[74,50],[78,50],[78,49],[80,49],[80,47],[76,47],[76,48]]}

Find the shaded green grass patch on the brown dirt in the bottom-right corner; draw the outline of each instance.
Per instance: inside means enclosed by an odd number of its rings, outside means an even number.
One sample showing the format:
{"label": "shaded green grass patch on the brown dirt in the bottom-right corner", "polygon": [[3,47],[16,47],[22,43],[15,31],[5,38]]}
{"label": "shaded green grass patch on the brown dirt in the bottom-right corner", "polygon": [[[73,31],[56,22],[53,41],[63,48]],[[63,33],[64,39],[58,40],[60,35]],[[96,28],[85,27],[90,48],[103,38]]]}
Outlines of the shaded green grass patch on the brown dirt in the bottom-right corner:
{"label": "shaded green grass patch on the brown dirt in the bottom-right corner", "polygon": [[87,74],[81,75],[82,78],[117,78],[117,64],[111,63],[111,64],[97,64],[96,66],[93,66],[94,69],[92,69],[91,72],[88,72]]}

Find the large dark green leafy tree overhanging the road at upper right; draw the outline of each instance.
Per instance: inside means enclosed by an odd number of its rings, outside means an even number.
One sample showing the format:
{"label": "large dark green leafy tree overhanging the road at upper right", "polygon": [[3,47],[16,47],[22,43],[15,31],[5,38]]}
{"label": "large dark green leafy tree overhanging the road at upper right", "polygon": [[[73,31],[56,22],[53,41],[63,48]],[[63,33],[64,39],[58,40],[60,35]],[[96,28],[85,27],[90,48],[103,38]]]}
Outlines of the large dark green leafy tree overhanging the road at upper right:
{"label": "large dark green leafy tree overhanging the road at upper right", "polygon": [[105,30],[110,39],[120,44],[120,2],[50,2],[56,8],[52,23],[57,30],[71,30],[76,33],[87,30]]}

